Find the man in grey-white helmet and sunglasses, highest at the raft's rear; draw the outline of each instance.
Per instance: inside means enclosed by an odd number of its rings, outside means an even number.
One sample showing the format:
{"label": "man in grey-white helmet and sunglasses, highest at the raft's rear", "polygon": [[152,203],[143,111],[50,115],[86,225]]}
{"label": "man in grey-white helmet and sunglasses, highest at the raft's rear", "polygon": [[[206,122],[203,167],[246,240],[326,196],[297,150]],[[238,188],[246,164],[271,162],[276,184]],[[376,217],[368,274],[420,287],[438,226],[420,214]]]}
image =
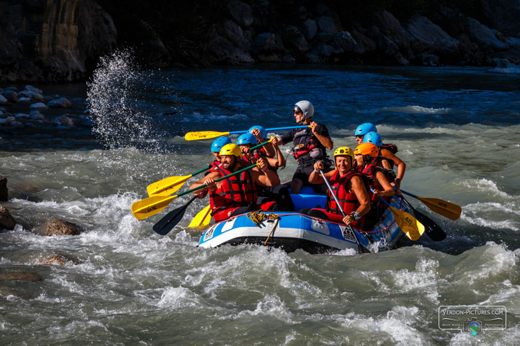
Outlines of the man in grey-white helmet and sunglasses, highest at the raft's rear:
{"label": "man in grey-white helmet and sunglasses, highest at the raft's rear", "polygon": [[311,102],[297,102],[293,111],[297,123],[311,127],[292,129],[281,136],[284,144],[293,142],[295,145],[293,155],[298,161],[298,167],[291,183],[291,193],[299,194],[304,185],[312,186],[317,192],[327,192],[326,185],[309,183],[309,176],[314,170],[316,161],[327,162],[327,149],[332,149],[334,145],[329,136],[329,130],[324,125],[313,121],[314,107]]}

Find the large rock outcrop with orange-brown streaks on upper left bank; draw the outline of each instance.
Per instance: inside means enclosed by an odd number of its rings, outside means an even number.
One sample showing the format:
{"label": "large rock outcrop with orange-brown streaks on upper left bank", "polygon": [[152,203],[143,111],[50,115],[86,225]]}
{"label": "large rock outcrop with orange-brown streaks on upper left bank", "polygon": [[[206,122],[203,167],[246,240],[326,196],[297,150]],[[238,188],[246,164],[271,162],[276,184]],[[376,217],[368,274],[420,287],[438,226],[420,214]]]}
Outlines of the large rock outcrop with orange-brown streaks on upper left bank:
{"label": "large rock outcrop with orange-brown streaks on upper left bank", "polygon": [[115,43],[112,18],[94,1],[0,1],[2,81],[85,79]]}

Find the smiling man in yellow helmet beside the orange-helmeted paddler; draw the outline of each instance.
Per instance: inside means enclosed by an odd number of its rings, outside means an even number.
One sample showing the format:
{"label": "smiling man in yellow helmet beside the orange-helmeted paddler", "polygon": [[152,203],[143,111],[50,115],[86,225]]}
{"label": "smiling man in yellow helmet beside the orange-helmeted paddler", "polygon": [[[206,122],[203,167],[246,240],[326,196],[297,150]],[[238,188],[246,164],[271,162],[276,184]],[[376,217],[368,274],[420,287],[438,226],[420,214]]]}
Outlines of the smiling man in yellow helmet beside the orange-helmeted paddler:
{"label": "smiling man in yellow helmet beside the orange-helmeted paddler", "polygon": [[[331,188],[338,199],[338,203],[329,191],[325,209],[300,210],[311,217],[329,219],[333,222],[352,225],[355,228],[363,227],[363,217],[370,210],[370,190],[367,178],[352,170],[354,153],[349,147],[338,147],[334,151],[336,170],[325,173],[330,181]],[[309,176],[309,182],[324,183],[320,170],[323,170],[322,161],[314,163],[314,171]],[[343,213],[345,212],[345,217]]]}

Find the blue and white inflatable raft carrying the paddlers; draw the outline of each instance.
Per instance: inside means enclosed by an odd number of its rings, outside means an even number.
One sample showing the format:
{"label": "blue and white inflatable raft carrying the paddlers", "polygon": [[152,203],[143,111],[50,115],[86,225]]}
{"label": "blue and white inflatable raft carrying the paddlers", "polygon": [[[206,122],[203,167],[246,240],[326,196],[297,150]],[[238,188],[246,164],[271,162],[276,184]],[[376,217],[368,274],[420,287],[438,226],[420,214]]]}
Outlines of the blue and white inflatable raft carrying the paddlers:
{"label": "blue and white inflatable raft carrying the paddlers", "polygon": [[[313,194],[292,194],[295,209],[320,208],[326,197]],[[412,213],[406,203],[392,197],[390,205],[398,210]],[[259,244],[282,248],[292,252],[301,248],[309,253],[330,253],[352,248],[365,252],[378,252],[395,248],[404,234],[397,226],[394,215],[387,209],[381,221],[370,232],[347,228],[330,221],[302,215],[297,212],[265,212],[259,215],[238,215],[214,224],[200,237],[199,246],[213,248],[225,244]],[[256,222],[255,222],[256,221]],[[352,233],[356,233],[355,235]],[[358,246],[356,238],[361,246]]]}

